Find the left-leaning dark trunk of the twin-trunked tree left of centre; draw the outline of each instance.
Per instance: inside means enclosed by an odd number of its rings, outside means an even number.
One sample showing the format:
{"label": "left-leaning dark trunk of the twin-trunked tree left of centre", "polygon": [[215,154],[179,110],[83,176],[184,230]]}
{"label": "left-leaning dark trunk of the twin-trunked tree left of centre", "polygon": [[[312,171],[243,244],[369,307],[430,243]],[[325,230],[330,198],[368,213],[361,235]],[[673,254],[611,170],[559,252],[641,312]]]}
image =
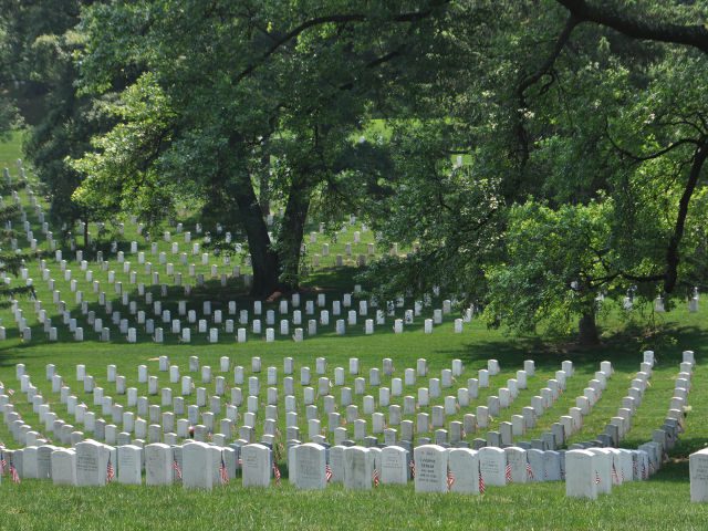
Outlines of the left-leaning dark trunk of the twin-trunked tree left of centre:
{"label": "left-leaning dark trunk of the twin-trunked tree left of centre", "polygon": [[263,220],[261,207],[249,181],[238,187],[235,199],[239,208],[253,268],[251,295],[268,296],[279,288],[280,262],[278,253],[271,248],[268,227]]}

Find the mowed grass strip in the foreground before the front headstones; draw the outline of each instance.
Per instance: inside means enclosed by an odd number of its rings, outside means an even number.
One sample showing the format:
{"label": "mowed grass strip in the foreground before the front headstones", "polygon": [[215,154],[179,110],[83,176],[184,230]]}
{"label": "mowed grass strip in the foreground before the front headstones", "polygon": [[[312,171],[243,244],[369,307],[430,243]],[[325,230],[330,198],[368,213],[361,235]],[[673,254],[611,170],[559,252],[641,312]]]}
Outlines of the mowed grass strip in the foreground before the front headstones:
{"label": "mowed grass strip in the foreground before the front headstones", "polygon": [[373,491],[281,488],[214,491],[110,485],[60,488],[3,482],[3,530],[194,529],[706,529],[706,507],[689,503],[686,462],[649,481],[625,483],[596,501],[565,498],[562,482],[489,487],[483,496],[416,494],[413,486]]}

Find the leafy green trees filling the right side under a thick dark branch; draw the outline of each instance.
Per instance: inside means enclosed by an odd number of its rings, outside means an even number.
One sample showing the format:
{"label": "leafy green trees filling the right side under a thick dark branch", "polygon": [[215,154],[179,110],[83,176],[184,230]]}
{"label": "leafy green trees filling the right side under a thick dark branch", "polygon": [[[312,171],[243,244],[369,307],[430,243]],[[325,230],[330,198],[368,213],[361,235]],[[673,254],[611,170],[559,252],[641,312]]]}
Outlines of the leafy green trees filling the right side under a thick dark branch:
{"label": "leafy green trees filling the right side under a thick dark branch", "polygon": [[[418,98],[406,107],[409,119],[391,147],[409,156],[405,138],[414,136],[416,121],[433,123],[430,116],[445,118],[426,137],[445,140],[424,155],[428,164],[417,160],[418,171],[394,157],[391,195],[413,205],[399,208],[396,199],[384,205],[385,216],[374,214],[386,240],[421,242],[419,252],[394,261],[392,279],[423,290],[445,279],[489,304],[490,319],[523,330],[556,320],[555,310],[568,312],[563,323],[583,316],[585,342],[597,340],[587,311],[596,291],[587,287],[617,293],[637,284],[642,298],[653,300],[657,292],[684,296],[700,279],[708,258],[700,225],[706,30],[695,4],[647,2],[629,10],[629,3],[558,1],[540,9],[498,2],[479,7],[488,13],[485,31],[450,22],[438,44],[467,72],[440,61],[433,75],[445,90],[425,96],[426,81],[412,80],[407,94]],[[464,171],[450,169],[457,155],[465,156]],[[469,176],[468,189],[460,187],[469,201],[460,198],[445,216],[449,183],[460,174]],[[480,189],[493,200],[480,201]],[[606,238],[584,252],[568,240],[572,262],[531,261],[543,247],[523,243],[519,227],[543,227],[521,223],[522,214],[537,212],[528,205],[548,209],[538,212],[553,227],[600,209]],[[548,274],[538,274],[543,268]],[[572,280],[583,271],[592,279],[587,287]],[[521,289],[523,274],[533,274],[532,290]]]}

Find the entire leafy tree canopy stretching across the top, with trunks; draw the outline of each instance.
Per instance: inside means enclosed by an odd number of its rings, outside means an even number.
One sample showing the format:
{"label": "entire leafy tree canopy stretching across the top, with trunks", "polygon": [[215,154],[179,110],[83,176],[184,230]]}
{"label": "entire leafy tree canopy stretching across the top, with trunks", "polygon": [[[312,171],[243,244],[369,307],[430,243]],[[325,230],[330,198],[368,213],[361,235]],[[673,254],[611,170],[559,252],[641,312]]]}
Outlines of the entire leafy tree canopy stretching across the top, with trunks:
{"label": "entire leafy tree canopy stretching across the top, with trunks", "polygon": [[246,233],[264,295],[296,289],[313,208],[348,208],[412,249],[368,270],[378,295],[442,284],[587,341],[605,295],[705,283],[699,2],[4,3],[0,58],[52,108],[28,154],[59,217],[197,206]]}

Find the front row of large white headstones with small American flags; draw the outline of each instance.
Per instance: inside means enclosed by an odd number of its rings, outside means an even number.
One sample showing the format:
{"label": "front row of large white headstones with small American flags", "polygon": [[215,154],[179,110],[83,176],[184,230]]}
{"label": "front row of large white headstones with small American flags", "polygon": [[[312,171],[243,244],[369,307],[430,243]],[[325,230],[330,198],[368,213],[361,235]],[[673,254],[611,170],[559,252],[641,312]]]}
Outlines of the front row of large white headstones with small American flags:
{"label": "front row of large white headstones with small American flags", "polygon": [[[51,479],[56,485],[105,486],[119,483],[171,485],[212,489],[241,476],[242,487],[269,488],[280,483],[273,451],[264,445],[219,447],[189,441],[162,442],[140,448],[112,447],[84,440],[74,448],[51,445],[3,449],[3,459],[22,478]],[[444,448],[421,445],[410,451],[398,446],[364,448],[314,442],[288,448],[289,481],[300,489],[325,489],[342,482],[347,489],[368,490],[378,485],[406,485],[414,479],[418,492],[479,494],[487,487],[565,479],[566,494],[594,499],[613,486],[646,480],[662,467],[660,448],[647,442],[637,450],[589,448],[541,451],[518,447]]]}

